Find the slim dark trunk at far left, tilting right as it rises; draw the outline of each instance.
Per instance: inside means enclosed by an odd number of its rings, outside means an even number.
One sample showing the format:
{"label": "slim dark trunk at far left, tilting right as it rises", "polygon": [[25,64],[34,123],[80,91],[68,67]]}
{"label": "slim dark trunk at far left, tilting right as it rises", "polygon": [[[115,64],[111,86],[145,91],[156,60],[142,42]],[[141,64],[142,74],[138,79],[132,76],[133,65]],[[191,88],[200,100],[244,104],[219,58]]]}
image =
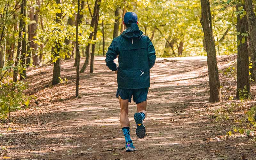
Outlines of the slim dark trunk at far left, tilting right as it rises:
{"label": "slim dark trunk at far left, tilting right as it rises", "polygon": [[[24,1],[22,0],[20,2],[20,14],[24,14]],[[18,64],[20,62],[20,48],[21,48],[21,40],[23,36],[23,24],[24,24],[24,16],[20,17],[20,24],[19,24],[19,37],[18,37],[18,46],[17,46],[17,55],[15,59],[14,69],[13,69],[13,82],[17,82],[17,76],[18,76]]]}

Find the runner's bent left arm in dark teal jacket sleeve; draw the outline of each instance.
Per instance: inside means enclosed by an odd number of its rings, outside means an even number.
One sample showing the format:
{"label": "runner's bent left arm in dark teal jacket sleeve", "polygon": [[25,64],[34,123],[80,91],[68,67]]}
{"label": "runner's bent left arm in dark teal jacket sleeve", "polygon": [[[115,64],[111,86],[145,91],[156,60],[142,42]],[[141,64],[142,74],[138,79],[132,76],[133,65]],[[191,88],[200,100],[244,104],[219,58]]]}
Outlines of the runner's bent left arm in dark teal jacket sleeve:
{"label": "runner's bent left arm in dark teal jacket sleeve", "polygon": [[116,47],[115,47],[114,40],[113,40],[111,42],[110,46],[108,47],[108,52],[106,53],[106,60],[105,60],[108,68],[111,69],[112,71],[117,70],[116,63],[114,62],[117,55],[118,54],[116,52]]}

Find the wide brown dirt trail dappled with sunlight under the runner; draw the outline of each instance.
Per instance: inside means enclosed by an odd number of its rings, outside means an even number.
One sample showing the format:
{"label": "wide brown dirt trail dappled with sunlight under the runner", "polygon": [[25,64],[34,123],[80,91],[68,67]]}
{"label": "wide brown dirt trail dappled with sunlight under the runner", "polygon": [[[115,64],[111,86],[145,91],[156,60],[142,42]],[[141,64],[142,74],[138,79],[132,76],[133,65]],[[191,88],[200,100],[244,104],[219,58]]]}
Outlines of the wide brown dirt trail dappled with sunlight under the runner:
{"label": "wide brown dirt trail dappled with sunlight under the runner", "polygon": [[[0,146],[5,146],[7,156],[15,160],[238,160],[242,154],[254,159],[255,144],[245,143],[248,139],[214,139],[231,127],[211,118],[211,110],[218,104],[207,102],[206,57],[168,60],[157,59],[151,70],[144,139],[136,137],[136,107],[133,102],[129,105],[136,152],[120,150],[124,137],[115,98],[116,75],[105,66],[103,57],[95,58],[93,74],[88,70],[81,74],[79,99],[72,97],[73,61],[62,64],[61,76],[68,83],[55,87],[50,86],[52,66],[29,71],[29,76],[41,79],[28,78],[41,106],[27,109],[33,113],[18,111],[13,117],[17,121],[2,124]],[[44,90],[36,87],[38,83]],[[55,92],[56,87],[63,89]],[[15,123],[18,121],[22,123]]]}

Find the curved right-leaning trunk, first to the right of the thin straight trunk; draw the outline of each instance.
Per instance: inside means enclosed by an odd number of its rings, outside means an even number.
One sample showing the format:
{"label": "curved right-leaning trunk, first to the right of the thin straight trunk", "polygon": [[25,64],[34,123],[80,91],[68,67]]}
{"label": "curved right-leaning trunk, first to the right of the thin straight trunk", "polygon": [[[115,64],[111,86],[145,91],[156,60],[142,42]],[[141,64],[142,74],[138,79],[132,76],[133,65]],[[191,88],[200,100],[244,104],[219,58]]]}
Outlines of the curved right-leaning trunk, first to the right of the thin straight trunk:
{"label": "curved right-leaning trunk, first to the right of the thin straight trunk", "polygon": [[[99,0],[95,0],[95,4],[94,4],[94,9],[93,9],[93,16],[92,16],[92,21],[91,21],[91,28],[94,28],[94,24],[96,21],[96,12],[97,12],[97,7],[98,7],[98,1]],[[90,33],[89,35],[89,40],[92,40],[92,36],[93,36],[93,32]],[[90,46],[91,44],[87,44],[86,48],[85,48],[85,54],[86,54],[86,59],[84,61],[84,65],[80,70],[80,73],[84,73],[85,69],[87,68],[88,64],[89,64],[89,58],[90,58]]]}

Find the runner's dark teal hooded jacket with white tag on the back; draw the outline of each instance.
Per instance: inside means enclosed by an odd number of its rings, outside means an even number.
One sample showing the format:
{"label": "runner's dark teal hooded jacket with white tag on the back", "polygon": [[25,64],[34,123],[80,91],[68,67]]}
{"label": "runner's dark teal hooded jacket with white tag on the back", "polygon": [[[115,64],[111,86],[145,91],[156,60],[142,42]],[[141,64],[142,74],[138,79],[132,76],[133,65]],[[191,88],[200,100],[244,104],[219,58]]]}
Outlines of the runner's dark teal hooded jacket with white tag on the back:
{"label": "runner's dark teal hooded jacket with white tag on the back", "polygon": [[136,23],[113,39],[106,53],[106,64],[116,71],[114,60],[118,55],[117,85],[125,89],[150,87],[149,69],[156,61],[155,48]]}

